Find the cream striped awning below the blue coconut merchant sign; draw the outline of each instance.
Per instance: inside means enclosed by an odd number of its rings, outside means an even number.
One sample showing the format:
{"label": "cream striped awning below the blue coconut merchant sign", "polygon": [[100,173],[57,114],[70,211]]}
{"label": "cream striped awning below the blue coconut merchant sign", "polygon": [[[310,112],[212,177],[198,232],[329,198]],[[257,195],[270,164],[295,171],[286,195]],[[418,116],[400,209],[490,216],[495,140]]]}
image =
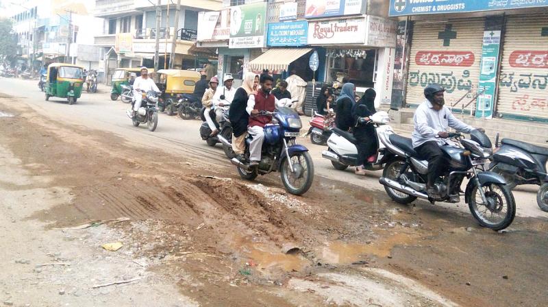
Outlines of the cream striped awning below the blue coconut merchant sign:
{"label": "cream striped awning below the blue coconut merchant sign", "polygon": [[253,71],[268,69],[269,71],[287,71],[291,62],[301,58],[306,53],[312,51],[311,48],[279,48],[269,49],[262,53],[258,58],[249,62],[249,68]]}

